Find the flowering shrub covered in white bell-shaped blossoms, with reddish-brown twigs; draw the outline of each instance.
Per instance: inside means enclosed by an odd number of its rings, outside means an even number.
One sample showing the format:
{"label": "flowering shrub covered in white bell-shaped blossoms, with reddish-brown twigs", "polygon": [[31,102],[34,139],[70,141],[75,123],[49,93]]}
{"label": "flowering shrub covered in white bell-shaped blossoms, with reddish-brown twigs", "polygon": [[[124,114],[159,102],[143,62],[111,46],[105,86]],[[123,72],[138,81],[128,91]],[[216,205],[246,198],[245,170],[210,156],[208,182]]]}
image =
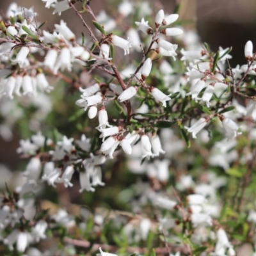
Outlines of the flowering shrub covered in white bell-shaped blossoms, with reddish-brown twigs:
{"label": "flowering shrub covered in white bell-shaped blossoms, with reddish-brown twigs", "polygon": [[19,127],[27,159],[1,197],[2,255],[256,255],[252,42],[232,68],[231,47],[148,2],[113,19],[42,1],[86,31],[15,3],[2,17],[0,134]]}

